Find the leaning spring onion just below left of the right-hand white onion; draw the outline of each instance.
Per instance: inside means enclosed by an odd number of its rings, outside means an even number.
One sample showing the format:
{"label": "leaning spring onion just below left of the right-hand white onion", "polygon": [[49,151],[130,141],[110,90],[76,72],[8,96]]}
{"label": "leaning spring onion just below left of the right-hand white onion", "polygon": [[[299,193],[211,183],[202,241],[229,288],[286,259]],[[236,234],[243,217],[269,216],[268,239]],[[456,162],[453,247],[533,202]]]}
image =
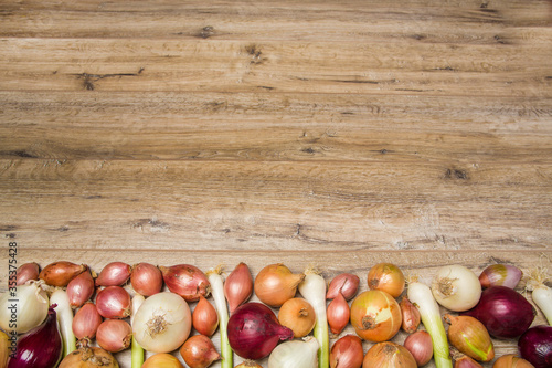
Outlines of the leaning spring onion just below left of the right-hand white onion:
{"label": "leaning spring onion just below left of the right-hand white onion", "polygon": [[408,283],[408,299],[420,311],[420,317],[425,329],[433,340],[433,358],[437,368],[453,368],[453,360],[448,350],[448,340],[445,326],[440,319],[440,311],[433,297],[429,286],[415,280]]}

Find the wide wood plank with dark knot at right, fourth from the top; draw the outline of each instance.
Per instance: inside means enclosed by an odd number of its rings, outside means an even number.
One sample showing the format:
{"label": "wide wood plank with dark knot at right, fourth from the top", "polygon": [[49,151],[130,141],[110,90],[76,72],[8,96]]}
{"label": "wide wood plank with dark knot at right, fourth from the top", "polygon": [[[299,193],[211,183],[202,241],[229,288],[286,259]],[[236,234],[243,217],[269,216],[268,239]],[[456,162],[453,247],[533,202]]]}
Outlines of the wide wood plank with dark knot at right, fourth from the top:
{"label": "wide wood plank with dark knot at right, fourth from the top", "polygon": [[1,228],[65,249],[549,249],[550,165],[2,160]]}

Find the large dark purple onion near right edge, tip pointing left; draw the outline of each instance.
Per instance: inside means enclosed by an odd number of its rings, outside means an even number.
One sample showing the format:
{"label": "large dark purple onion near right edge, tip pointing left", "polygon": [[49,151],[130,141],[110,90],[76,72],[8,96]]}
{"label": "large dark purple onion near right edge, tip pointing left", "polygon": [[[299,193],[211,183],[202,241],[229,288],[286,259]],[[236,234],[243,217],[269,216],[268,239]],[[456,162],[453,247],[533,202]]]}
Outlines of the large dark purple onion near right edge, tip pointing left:
{"label": "large dark purple onion near right edge, tip pointing left", "polygon": [[463,315],[477,318],[490,336],[516,338],[523,334],[534,319],[535,311],[520,293],[507,286],[491,286],[481,293],[479,303]]}

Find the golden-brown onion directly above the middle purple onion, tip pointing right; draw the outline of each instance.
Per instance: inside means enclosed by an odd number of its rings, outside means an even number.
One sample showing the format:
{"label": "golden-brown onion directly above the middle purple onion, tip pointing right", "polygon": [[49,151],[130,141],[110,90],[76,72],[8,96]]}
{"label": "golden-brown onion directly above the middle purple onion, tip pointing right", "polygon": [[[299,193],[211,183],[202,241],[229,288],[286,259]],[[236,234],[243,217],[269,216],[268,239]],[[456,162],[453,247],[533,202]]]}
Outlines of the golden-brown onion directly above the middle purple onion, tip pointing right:
{"label": "golden-brown onion directly above the middle purple onion, tip pointing right", "polygon": [[297,286],[305,280],[305,274],[294,274],[282,263],[270,264],[259,271],[255,277],[255,295],[261,302],[279,307],[295,296]]}

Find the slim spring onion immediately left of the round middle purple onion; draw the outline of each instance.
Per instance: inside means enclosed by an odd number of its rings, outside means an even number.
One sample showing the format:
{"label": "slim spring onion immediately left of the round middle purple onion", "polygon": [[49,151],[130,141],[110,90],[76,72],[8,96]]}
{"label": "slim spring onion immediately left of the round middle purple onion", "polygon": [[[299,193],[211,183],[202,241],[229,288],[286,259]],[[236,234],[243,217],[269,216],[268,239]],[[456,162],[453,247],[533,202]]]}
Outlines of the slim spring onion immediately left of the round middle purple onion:
{"label": "slim spring onion immediately left of the round middle purple onion", "polygon": [[213,295],[216,314],[219,315],[219,328],[221,332],[221,368],[233,368],[233,351],[230,347],[226,327],[229,325],[229,309],[224,297],[224,284],[222,278],[222,267],[219,266],[206,273],[211,283],[211,294]]}

